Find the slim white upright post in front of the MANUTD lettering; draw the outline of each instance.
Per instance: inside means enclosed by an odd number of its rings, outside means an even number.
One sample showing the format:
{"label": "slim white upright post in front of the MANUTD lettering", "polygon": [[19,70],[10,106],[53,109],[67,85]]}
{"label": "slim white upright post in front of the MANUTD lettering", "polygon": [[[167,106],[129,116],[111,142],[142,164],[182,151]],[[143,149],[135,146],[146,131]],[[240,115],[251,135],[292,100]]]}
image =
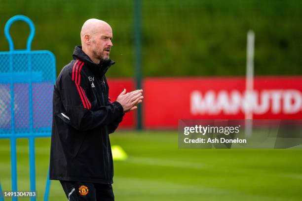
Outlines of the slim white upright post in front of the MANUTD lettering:
{"label": "slim white upright post in front of the MANUTD lettering", "polygon": [[246,50],[246,110],[245,110],[245,134],[251,136],[253,132],[253,88],[254,88],[254,46],[255,33],[250,30],[247,33],[247,50]]}

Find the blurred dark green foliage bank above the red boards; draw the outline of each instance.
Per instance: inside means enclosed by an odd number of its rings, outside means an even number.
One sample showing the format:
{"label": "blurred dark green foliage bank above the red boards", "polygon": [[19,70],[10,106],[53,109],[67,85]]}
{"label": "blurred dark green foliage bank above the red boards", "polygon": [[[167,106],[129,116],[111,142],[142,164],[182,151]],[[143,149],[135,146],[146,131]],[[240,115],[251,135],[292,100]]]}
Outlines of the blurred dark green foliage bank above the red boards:
{"label": "blurred dark green foliage bank above the red boards", "polygon": [[[301,0],[142,0],[144,76],[244,75],[246,33],[255,32],[255,74],[302,74]],[[33,50],[50,50],[57,73],[72,59],[89,18],[113,28],[109,76],[134,75],[133,0],[0,0],[0,28],[17,14],[36,26]],[[29,28],[11,27],[16,49]],[[4,31],[0,51],[8,51]]]}

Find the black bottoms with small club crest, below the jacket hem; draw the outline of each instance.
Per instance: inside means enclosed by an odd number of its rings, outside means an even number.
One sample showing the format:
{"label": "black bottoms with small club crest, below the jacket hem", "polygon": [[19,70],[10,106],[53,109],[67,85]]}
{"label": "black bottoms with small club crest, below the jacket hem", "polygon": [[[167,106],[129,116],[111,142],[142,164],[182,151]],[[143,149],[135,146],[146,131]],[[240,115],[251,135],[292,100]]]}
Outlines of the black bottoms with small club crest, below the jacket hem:
{"label": "black bottoms with small club crest, below the jacket hem", "polygon": [[60,181],[68,201],[114,201],[111,184]]}

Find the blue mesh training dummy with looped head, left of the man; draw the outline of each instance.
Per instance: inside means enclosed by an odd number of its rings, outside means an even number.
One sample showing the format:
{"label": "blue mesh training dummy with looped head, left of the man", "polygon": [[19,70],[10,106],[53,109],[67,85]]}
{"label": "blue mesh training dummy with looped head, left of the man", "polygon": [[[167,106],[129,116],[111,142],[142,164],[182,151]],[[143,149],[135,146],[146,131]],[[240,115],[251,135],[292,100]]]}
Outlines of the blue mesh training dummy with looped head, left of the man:
{"label": "blue mesh training dummy with looped head, left of the man", "polygon": [[[9,33],[15,21],[26,22],[31,30],[25,50],[15,50]],[[4,28],[8,52],[0,52],[0,138],[10,139],[12,191],[17,191],[16,139],[29,139],[30,190],[36,191],[35,138],[51,136],[52,92],[56,79],[55,56],[31,51],[34,23],[26,16],[10,18]],[[44,200],[48,199],[47,176]],[[1,190],[1,186],[0,186]],[[1,192],[1,191],[0,191]],[[0,201],[3,200],[3,196]],[[17,198],[13,198],[16,201]],[[36,198],[32,197],[31,201]]]}

